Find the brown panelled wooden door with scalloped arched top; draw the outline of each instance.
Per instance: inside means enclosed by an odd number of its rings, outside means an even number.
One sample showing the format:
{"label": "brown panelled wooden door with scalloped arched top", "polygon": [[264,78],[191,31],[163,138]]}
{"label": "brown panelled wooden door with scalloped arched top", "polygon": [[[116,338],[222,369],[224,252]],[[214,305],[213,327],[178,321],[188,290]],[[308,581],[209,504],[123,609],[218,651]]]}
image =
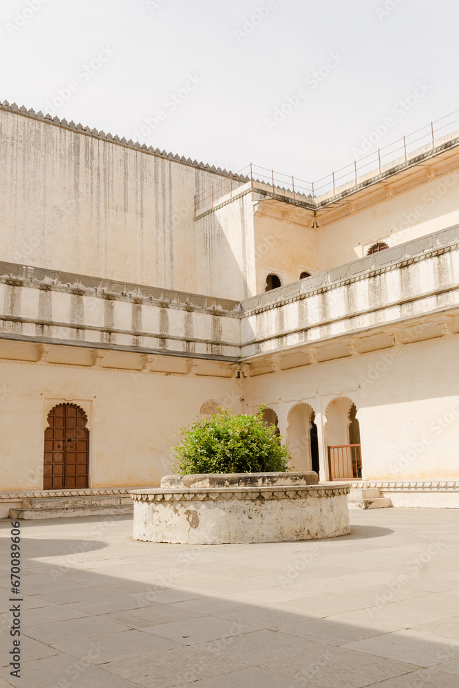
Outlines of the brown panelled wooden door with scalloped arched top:
{"label": "brown panelled wooden door with scalloped arched top", "polygon": [[43,489],[85,488],[89,475],[87,417],[76,404],[59,404],[48,413]]}

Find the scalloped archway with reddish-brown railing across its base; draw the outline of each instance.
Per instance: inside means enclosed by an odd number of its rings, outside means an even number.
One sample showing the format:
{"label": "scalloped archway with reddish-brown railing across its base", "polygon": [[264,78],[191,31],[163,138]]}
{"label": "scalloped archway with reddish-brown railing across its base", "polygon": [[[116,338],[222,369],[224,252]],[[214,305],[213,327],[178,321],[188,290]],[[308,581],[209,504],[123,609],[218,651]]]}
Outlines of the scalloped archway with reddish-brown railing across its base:
{"label": "scalloped archway with reddish-brown railing across its base", "polygon": [[362,458],[357,407],[348,396],[332,399],[325,409],[325,440],[330,480],[360,480]]}

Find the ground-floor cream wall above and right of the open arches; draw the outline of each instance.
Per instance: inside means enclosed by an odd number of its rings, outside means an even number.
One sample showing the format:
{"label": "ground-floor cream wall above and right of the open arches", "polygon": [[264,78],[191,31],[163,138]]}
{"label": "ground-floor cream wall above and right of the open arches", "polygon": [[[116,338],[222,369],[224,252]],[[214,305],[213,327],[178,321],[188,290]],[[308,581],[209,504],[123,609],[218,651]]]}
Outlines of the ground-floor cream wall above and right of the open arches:
{"label": "ground-floor cream wall above and right of the open arches", "polygon": [[457,340],[440,338],[259,375],[244,398],[257,407],[280,393],[281,407],[315,395],[320,433],[328,403],[348,397],[360,422],[363,479],[447,480],[459,477],[458,380]]}

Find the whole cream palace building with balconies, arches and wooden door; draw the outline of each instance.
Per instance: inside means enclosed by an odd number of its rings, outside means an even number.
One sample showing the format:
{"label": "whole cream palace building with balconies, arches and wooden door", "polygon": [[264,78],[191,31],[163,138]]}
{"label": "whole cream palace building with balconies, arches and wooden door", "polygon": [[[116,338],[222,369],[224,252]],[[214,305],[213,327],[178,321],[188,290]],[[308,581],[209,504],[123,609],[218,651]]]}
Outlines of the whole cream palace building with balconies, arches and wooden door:
{"label": "whole cream palace building with balconies, arches and wooden door", "polygon": [[456,133],[319,197],[6,102],[0,150],[0,515],[159,484],[219,405],[459,507]]}

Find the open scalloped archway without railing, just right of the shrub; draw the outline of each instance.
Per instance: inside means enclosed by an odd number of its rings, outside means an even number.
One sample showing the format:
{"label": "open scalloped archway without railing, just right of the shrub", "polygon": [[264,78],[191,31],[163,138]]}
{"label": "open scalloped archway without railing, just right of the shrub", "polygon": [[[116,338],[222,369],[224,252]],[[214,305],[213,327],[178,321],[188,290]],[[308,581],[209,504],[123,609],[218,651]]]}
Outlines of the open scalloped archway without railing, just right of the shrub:
{"label": "open scalloped archway without railing, just right of the shrub", "polygon": [[307,402],[292,406],[287,416],[286,438],[297,471],[315,471],[319,475],[319,443],[315,411]]}

